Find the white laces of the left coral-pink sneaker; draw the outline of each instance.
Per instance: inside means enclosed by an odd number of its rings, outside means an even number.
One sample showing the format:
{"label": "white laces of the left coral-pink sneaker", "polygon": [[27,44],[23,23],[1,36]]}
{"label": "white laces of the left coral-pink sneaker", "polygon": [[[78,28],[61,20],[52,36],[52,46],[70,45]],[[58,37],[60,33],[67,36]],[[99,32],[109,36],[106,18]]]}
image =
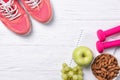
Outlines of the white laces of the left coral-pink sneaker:
{"label": "white laces of the left coral-pink sneaker", "polygon": [[9,20],[13,20],[21,15],[17,6],[13,4],[14,0],[9,0],[8,2],[0,0],[0,12],[3,16],[9,18]]}

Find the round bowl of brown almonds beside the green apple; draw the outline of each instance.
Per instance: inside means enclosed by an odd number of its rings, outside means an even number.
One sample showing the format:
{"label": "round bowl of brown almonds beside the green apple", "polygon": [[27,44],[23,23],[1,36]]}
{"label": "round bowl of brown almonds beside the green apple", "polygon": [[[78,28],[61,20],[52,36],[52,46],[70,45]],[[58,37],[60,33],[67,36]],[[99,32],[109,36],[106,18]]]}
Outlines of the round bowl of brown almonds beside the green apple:
{"label": "round bowl of brown almonds beside the green apple", "polygon": [[113,80],[119,74],[120,66],[114,56],[101,54],[95,58],[91,69],[98,80]]}

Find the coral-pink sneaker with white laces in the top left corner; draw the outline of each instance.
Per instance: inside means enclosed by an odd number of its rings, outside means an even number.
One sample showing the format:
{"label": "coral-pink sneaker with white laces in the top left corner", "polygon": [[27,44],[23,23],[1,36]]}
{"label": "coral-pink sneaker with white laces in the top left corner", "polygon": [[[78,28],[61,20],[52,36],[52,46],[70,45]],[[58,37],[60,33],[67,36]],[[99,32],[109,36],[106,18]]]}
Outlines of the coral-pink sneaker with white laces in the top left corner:
{"label": "coral-pink sneaker with white laces in the top left corner", "polygon": [[28,15],[18,0],[0,0],[0,20],[17,34],[26,34],[30,30]]}

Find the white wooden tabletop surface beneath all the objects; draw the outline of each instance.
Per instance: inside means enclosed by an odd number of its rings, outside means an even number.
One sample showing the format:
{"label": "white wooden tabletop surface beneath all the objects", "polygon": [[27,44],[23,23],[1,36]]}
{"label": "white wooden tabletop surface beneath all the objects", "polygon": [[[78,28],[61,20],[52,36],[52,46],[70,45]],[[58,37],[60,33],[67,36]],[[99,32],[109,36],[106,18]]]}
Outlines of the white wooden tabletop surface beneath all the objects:
{"label": "white wooden tabletop surface beneath all the objects", "polygon": [[[51,3],[52,21],[41,24],[31,18],[32,31],[28,36],[16,35],[0,23],[0,80],[61,80],[61,64],[70,64],[77,44],[90,47],[97,56],[96,31],[120,24],[120,0],[51,0]],[[112,54],[114,49],[105,52]],[[119,51],[118,48],[115,53],[118,60]],[[84,69],[84,80],[96,80],[89,68]]]}

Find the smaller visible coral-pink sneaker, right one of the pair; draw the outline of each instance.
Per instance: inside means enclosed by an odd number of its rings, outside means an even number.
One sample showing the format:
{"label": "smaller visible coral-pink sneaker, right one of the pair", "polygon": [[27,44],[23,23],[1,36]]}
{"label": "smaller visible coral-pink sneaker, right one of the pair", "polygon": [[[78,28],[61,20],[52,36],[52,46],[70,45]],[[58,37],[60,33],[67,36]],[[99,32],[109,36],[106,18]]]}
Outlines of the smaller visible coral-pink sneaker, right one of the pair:
{"label": "smaller visible coral-pink sneaker, right one of the pair", "polygon": [[50,0],[21,0],[33,18],[40,22],[48,22],[52,17]]}

